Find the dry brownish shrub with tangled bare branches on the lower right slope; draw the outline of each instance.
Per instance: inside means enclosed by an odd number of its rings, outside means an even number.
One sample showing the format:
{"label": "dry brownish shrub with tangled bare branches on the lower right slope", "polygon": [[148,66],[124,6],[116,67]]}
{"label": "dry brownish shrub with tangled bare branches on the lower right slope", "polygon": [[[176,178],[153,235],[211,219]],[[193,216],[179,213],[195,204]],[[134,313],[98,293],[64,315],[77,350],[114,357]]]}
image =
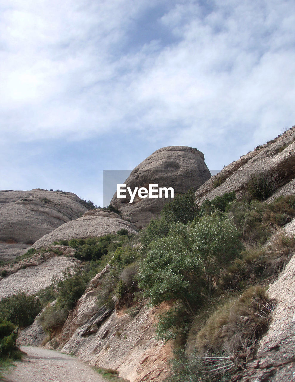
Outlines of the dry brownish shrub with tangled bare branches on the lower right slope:
{"label": "dry brownish shrub with tangled bare branches on the lower right slope", "polygon": [[247,289],[209,317],[197,335],[198,350],[234,356],[237,364],[247,361],[268,328],[274,306],[274,300],[260,286]]}

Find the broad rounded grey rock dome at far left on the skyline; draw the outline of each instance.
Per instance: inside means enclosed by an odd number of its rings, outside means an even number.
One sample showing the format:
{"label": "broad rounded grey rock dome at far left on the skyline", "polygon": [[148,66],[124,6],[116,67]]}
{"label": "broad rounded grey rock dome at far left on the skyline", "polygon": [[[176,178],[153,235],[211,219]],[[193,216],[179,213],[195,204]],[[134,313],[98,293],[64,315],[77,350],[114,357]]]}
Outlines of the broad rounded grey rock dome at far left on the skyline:
{"label": "broad rounded grey rock dome at far left on the skyline", "polygon": [[[62,191],[0,191],[0,253],[22,254],[20,244],[30,246],[61,224],[77,219],[87,208],[73,193]],[[5,244],[3,244],[5,243]]]}

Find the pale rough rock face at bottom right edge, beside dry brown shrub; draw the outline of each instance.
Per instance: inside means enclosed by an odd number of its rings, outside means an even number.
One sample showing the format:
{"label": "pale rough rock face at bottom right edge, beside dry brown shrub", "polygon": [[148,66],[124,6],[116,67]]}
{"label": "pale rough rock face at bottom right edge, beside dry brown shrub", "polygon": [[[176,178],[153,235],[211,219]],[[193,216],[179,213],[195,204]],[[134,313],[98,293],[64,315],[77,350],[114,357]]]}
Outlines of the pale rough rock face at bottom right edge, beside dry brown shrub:
{"label": "pale rough rock face at bottom right edge, beside dry brown shrub", "polygon": [[[286,225],[295,233],[295,219]],[[242,382],[291,382],[295,380],[295,255],[276,282],[269,286],[269,296],[277,306],[271,323],[258,344],[256,359],[247,365]]]}

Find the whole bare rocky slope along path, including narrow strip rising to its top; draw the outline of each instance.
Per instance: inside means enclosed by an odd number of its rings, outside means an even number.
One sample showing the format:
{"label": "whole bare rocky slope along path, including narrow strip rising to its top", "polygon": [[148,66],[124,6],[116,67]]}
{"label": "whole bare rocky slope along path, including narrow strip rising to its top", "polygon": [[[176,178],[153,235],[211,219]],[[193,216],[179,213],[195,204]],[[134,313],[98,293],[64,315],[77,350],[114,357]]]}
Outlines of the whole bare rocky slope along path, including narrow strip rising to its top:
{"label": "whole bare rocky slope along path, including narrow strip rising to its top", "polygon": [[[91,366],[115,369],[131,382],[161,381],[168,374],[171,344],[155,340],[156,315],[165,306],[150,308],[147,301],[136,306],[134,312],[126,309],[99,307],[97,294],[100,280],[110,266],[96,275],[89,288],[70,312],[62,332],[45,345],[75,354]],[[37,345],[45,334],[37,320],[26,328],[19,338],[22,345]]]}

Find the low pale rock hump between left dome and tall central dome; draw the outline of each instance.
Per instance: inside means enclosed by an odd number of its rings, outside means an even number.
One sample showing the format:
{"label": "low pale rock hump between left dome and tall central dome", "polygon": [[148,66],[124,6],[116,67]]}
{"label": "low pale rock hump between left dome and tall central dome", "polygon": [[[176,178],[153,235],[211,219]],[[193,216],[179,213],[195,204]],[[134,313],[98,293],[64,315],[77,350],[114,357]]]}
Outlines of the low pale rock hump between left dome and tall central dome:
{"label": "low pale rock hump between left dome and tall central dome", "polygon": [[33,248],[48,246],[54,241],[104,236],[109,233],[117,233],[121,228],[126,228],[129,233],[137,233],[137,229],[134,225],[121,219],[118,214],[101,210],[91,210],[87,211],[81,218],[64,223],[51,233],[43,236],[34,243]]}

